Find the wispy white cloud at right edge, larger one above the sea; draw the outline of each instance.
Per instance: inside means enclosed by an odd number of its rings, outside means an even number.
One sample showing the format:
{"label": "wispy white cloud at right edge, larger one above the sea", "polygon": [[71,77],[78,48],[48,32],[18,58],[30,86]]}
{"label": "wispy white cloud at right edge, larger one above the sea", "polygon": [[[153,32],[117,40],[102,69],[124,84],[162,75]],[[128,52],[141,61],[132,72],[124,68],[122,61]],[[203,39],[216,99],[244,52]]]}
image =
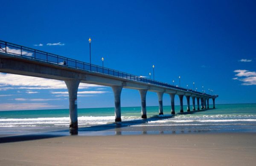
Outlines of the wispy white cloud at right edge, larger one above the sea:
{"label": "wispy white cloud at right edge, larger one above the sea", "polygon": [[256,72],[250,72],[248,70],[235,70],[234,72],[237,73],[237,77],[233,78],[233,80],[243,82],[241,85],[256,85]]}

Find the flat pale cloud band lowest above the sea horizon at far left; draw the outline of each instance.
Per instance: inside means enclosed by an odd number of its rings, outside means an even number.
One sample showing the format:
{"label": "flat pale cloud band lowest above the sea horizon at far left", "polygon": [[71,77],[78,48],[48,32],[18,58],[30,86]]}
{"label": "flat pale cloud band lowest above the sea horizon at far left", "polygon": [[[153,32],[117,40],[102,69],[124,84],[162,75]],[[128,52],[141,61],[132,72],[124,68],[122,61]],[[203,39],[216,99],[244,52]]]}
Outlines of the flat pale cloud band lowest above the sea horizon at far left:
{"label": "flat pale cloud band lowest above the sea horizon at far left", "polygon": [[0,103],[0,111],[59,108],[48,103]]}

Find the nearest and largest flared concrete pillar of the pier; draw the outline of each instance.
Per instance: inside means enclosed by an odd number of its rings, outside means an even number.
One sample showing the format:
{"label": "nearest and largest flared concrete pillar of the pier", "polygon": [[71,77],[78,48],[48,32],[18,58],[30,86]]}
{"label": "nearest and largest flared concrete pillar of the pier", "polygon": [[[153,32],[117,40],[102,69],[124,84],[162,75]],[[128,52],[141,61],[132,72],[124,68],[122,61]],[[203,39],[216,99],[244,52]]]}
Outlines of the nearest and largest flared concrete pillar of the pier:
{"label": "nearest and largest flared concrete pillar of the pier", "polygon": [[79,87],[80,80],[65,80],[65,83],[69,95],[70,130],[77,130],[77,90]]}

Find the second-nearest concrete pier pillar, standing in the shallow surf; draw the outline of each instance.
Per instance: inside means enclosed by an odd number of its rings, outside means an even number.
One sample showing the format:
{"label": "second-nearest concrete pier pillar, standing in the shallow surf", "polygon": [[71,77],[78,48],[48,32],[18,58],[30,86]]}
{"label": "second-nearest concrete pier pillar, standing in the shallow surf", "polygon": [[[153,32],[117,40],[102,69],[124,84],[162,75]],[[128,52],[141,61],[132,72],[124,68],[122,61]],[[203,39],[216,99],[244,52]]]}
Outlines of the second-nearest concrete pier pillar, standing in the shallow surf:
{"label": "second-nearest concrete pier pillar, standing in the shallow surf", "polygon": [[121,122],[121,92],[122,86],[112,86],[115,99],[115,122]]}

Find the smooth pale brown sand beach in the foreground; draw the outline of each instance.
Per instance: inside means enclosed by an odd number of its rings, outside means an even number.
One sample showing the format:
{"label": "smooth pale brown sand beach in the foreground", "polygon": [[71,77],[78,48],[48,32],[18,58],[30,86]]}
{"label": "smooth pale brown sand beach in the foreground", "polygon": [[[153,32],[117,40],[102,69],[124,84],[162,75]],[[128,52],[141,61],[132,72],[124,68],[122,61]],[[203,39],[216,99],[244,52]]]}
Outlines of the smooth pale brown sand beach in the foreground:
{"label": "smooth pale brown sand beach in the foreground", "polygon": [[255,166],[256,133],[67,136],[1,143],[0,165]]}

